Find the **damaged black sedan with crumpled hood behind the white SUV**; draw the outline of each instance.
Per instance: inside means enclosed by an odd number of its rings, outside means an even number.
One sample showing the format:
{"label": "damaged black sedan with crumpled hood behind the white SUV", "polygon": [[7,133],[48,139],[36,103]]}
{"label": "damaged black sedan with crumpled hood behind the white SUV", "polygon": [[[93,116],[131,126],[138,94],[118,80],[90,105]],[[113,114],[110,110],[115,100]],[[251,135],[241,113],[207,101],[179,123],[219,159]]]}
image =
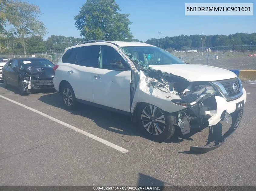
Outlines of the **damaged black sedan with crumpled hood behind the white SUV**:
{"label": "damaged black sedan with crumpled hood behind the white SUV", "polygon": [[2,68],[4,85],[19,88],[21,94],[33,89],[54,88],[54,64],[44,58],[10,59]]}

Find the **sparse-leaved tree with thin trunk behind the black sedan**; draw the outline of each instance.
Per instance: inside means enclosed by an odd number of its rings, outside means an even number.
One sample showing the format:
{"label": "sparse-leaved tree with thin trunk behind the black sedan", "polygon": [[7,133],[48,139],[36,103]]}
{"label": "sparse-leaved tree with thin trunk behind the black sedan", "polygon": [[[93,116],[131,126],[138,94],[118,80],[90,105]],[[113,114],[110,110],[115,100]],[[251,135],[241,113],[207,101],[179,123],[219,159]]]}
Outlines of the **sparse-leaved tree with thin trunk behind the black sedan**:
{"label": "sparse-leaved tree with thin trunk behind the black sedan", "polygon": [[37,5],[28,2],[15,1],[8,6],[8,22],[12,25],[13,33],[22,43],[24,54],[26,57],[26,37],[41,36],[46,34],[47,28],[38,19],[41,14]]}

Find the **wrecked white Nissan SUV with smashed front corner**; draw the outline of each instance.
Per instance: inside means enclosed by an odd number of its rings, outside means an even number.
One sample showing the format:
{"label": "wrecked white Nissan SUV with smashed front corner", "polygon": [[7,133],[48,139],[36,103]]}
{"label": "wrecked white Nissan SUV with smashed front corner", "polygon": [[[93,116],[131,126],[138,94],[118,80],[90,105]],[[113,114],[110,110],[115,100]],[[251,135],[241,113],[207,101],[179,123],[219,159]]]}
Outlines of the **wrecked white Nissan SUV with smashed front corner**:
{"label": "wrecked white Nissan SUV with smashed front corner", "polygon": [[65,49],[54,70],[65,108],[81,102],[130,115],[158,141],[170,138],[175,127],[185,135],[231,116],[231,129],[217,143],[191,147],[200,152],[217,148],[237,128],[246,101],[233,72],[188,64],[139,42],[81,42]]}

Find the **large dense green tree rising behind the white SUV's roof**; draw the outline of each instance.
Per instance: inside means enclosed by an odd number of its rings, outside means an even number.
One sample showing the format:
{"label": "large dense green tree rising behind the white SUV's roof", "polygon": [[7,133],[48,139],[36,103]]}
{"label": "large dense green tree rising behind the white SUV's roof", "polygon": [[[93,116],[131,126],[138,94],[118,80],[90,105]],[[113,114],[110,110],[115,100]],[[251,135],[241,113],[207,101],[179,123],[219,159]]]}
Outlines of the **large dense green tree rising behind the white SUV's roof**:
{"label": "large dense green tree rising behind the white SUV's roof", "polygon": [[121,14],[115,0],[87,0],[75,18],[75,25],[85,40],[131,39],[129,14]]}

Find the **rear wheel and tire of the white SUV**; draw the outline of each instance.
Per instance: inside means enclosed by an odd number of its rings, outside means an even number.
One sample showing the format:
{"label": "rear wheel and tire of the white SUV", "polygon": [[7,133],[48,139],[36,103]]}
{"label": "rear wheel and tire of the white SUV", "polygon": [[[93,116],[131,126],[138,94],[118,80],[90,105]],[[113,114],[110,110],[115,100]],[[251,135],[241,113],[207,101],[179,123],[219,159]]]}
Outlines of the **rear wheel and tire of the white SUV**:
{"label": "rear wheel and tire of the white SUV", "polygon": [[77,107],[77,101],[75,98],[75,93],[70,84],[65,83],[61,89],[61,97],[64,107],[67,110],[75,110]]}

